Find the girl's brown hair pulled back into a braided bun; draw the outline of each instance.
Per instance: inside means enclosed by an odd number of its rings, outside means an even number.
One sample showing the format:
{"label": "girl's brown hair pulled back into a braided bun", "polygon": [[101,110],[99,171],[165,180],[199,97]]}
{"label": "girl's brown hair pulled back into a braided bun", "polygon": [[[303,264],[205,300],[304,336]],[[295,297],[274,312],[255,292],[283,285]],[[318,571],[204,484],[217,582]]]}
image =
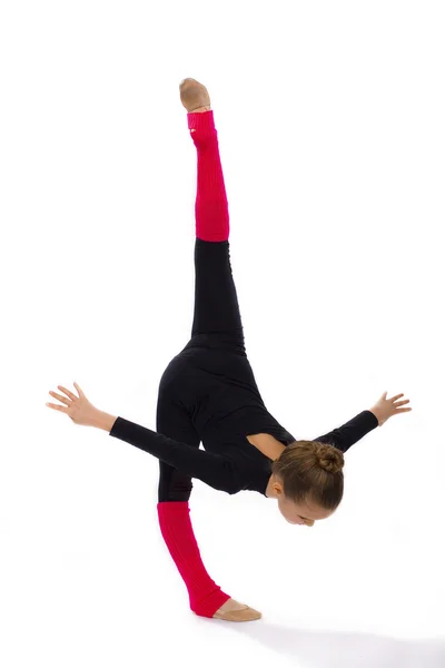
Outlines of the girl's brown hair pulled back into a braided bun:
{"label": "girl's brown hair pulled back into a braided bun", "polygon": [[335,510],[343,498],[343,452],[319,441],[294,441],[273,462],[271,472],[291,501]]}

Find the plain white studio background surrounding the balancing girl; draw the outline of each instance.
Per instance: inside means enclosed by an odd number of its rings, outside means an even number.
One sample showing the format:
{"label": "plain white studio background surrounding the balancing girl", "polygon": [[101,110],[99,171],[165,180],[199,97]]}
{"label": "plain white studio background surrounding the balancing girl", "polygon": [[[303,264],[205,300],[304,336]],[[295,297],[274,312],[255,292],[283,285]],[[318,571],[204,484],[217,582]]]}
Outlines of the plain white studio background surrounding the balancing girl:
{"label": "plain white studio background surrounding the balancing girl", "polygon": [[[444,6],[3,1],[3,668],[445,662]],[[155,430],[194,299],[209,89],[247,353],[313,439],[387,391],[413,411],[346,454],[314,528],[195,481],[210,576],[261,610],[196,617],[157,522],[158,461],[48,409],[76,381]]]}

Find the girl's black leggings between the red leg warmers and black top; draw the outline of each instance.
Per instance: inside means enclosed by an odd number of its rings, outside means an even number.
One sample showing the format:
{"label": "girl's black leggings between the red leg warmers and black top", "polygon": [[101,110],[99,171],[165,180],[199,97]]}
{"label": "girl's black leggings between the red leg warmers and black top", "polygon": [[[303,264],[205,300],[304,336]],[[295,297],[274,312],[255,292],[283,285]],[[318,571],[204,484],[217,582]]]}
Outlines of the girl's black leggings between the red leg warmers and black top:
{"label": "girl's black leggings between the red leg warmers and black top", "polygon": [[[231,273],[229,242],[195,242],[195,313],[191,338],[184,348],[218,348],[246,357],[238,297]],[[167,366],[160,384],[156,431],[199,448],[200,435],[175,393],[175,377],[185,370],[177,355]],[[184,375],[184,372],[182,372]],[[158,501],[188,501],[191,478],[159,461]]]}

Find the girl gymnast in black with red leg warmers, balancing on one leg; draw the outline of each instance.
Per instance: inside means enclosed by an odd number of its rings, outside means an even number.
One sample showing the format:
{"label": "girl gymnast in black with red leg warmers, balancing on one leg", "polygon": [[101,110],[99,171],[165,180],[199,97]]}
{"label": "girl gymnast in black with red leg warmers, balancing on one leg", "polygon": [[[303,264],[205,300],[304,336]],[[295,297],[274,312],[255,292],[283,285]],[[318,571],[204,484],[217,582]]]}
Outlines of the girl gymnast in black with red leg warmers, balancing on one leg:
{"label": "girl gymnast in black with red leg warmers, balancing on one leg", "polygon": [[[47,405],[76,424],[106,430],[159,460],[160,531],[187,587],[190,609],[227,621],[261,613],[234,600],[208,574],[190,521],[192,478],[236,494],[256,491],[276,499],[291,524],[313,527],[338,508],[344,453],[388,418],[411,411],[409,400],[387,399],[313,441],[296,440],[267,411],[246,355],[244,330],[229,257],[229,213],[210,98],[196,79],[179,85],[190,137],[197,149],[195,312],[191,338],[165,370],[156,429],[95,407],[78,395],[49,394]],[[205,450],[199,449],[202,441]]]}

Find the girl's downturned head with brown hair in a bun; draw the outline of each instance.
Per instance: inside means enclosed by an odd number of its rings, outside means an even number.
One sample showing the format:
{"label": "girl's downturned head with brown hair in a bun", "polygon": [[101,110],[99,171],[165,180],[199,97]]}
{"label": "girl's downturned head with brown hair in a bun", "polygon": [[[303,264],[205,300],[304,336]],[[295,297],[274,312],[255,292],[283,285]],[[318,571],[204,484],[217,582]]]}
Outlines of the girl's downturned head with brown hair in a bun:
{"label": "girl's downturned head with brown hair in a bun", "polygon": [[273,462],[267,495],[278,499],[291,524],[312,527],[330,517],[343,498],[343,452],[318,441],[294,441]]}

